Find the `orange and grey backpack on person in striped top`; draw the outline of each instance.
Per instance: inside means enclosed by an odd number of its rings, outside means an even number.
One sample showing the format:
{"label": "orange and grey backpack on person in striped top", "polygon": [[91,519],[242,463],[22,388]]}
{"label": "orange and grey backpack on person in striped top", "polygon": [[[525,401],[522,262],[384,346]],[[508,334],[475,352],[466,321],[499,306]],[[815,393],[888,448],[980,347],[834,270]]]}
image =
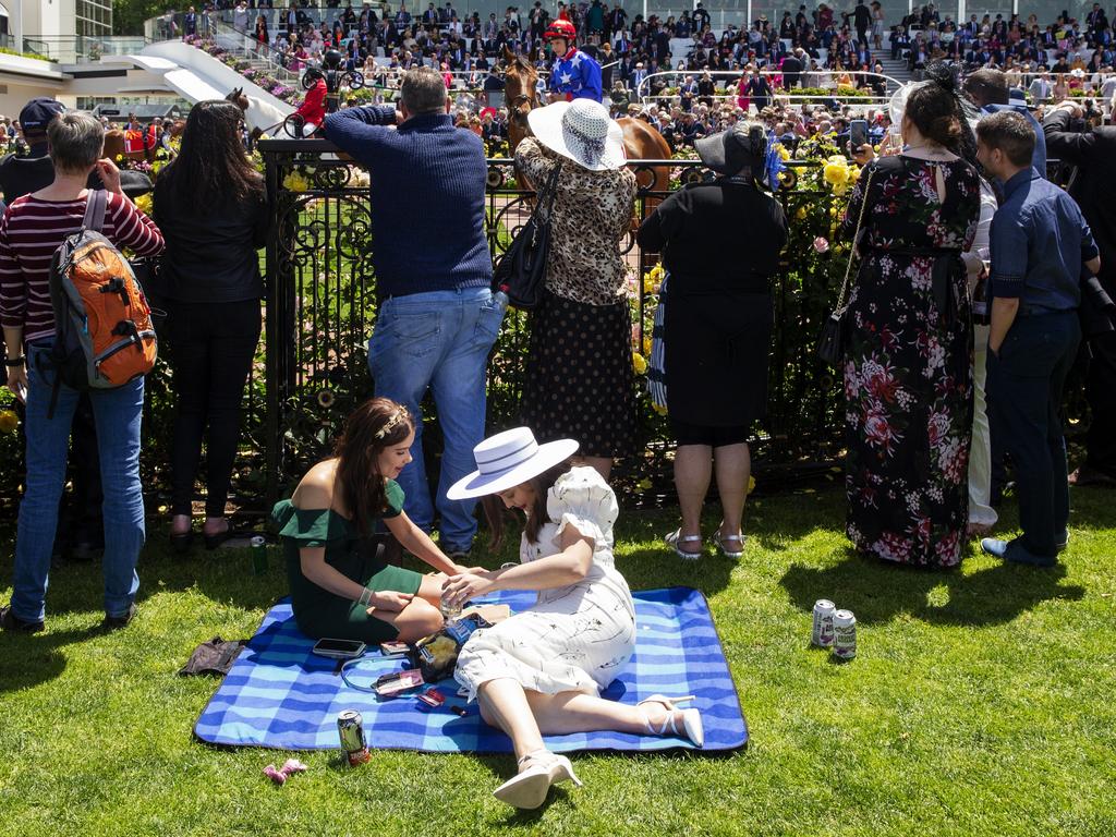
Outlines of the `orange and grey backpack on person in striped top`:
{"label": "orange and grey backpack on person in striped top", "polygon": [[100,233],[107,203],[104,190],[90,190],[81,229],[62,241],[50,262],[55,392],[48,417],[60,384],[113,389],[155,366],[151,307],[127,259]]}

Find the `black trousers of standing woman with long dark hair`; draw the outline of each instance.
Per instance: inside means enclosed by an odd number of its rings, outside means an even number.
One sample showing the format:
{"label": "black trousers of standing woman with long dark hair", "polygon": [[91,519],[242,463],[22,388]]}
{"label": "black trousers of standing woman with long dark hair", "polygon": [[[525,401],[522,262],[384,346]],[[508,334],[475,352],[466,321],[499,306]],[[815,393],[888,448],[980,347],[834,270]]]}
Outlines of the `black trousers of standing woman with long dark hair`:
{"label": "black trousers of standing woman with long dark hair", "polygon": [[240,405],[260,340],[260,300],[167,305],[177,396],[171,452],[172,513],[191,513],[202,437],[208,435],[205,514],[223,517],[240,437]]}

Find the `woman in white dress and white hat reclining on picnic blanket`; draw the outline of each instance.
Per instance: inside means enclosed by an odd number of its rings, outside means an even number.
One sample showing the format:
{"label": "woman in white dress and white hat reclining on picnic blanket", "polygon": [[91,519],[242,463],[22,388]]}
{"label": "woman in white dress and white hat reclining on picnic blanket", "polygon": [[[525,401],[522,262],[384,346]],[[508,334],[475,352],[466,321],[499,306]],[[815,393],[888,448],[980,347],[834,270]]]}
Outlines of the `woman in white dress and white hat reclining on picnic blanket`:
{"label": "woman in white dress and white hat reclining on picnic blanket", "polygon": [[537,808],[551,785],[581,782],[542,735],[615,730],[704,741],[701,715],[684,698],[652,695],[637,705],[600,698],[635,648],[635,607],[613,562],[613,490],[593,468],[570,466],[577,442],[539,445],[527,427],[500,433],[473,451],[478,471],[453,485],[451,500],[484,497],[499,538],[502,509],[526,514],[520,564],[446,579],[451,605],[493,590],[537,590],[538,602],[477,631],[458,657],[456,679],[481,716],[511,738],[519,773],[497,799]]}

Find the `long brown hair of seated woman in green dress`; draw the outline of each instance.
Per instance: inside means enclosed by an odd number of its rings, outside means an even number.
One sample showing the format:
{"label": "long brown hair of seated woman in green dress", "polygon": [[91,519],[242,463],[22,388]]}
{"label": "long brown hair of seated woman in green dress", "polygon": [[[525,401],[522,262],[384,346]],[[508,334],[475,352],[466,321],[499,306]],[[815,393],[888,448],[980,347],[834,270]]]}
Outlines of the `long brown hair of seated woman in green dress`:
{"label": "long brown hair of seated woman in green dress", "polygon": [[369,398],[345,422],[334,445],[336,487],[362,536],[372,535],[373,521],[387,511],[387,487],[379,473],[379,454],[403,442],[414,420],[391,398]]}

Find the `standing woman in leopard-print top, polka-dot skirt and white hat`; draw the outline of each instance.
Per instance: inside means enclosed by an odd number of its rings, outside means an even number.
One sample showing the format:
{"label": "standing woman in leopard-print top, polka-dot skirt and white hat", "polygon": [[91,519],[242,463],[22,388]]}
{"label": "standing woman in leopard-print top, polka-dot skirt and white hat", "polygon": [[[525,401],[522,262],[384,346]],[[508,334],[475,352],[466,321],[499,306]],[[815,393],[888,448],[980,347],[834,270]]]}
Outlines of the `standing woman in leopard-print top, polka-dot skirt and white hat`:
{"label": "standing woman in leopard-print top, polka-dot skirt and white hat", "polygon": [[[532,314],[523,422],[540,441],[576,439],[606,480],[634,452],[632,320],[619,242],[635,175],[619,126],[603,105],[576,99],[528,114],[533,137],[516,150],[531,183],[560,165],[542,304]],[[589,209],[591,208],[591,211]]]}

